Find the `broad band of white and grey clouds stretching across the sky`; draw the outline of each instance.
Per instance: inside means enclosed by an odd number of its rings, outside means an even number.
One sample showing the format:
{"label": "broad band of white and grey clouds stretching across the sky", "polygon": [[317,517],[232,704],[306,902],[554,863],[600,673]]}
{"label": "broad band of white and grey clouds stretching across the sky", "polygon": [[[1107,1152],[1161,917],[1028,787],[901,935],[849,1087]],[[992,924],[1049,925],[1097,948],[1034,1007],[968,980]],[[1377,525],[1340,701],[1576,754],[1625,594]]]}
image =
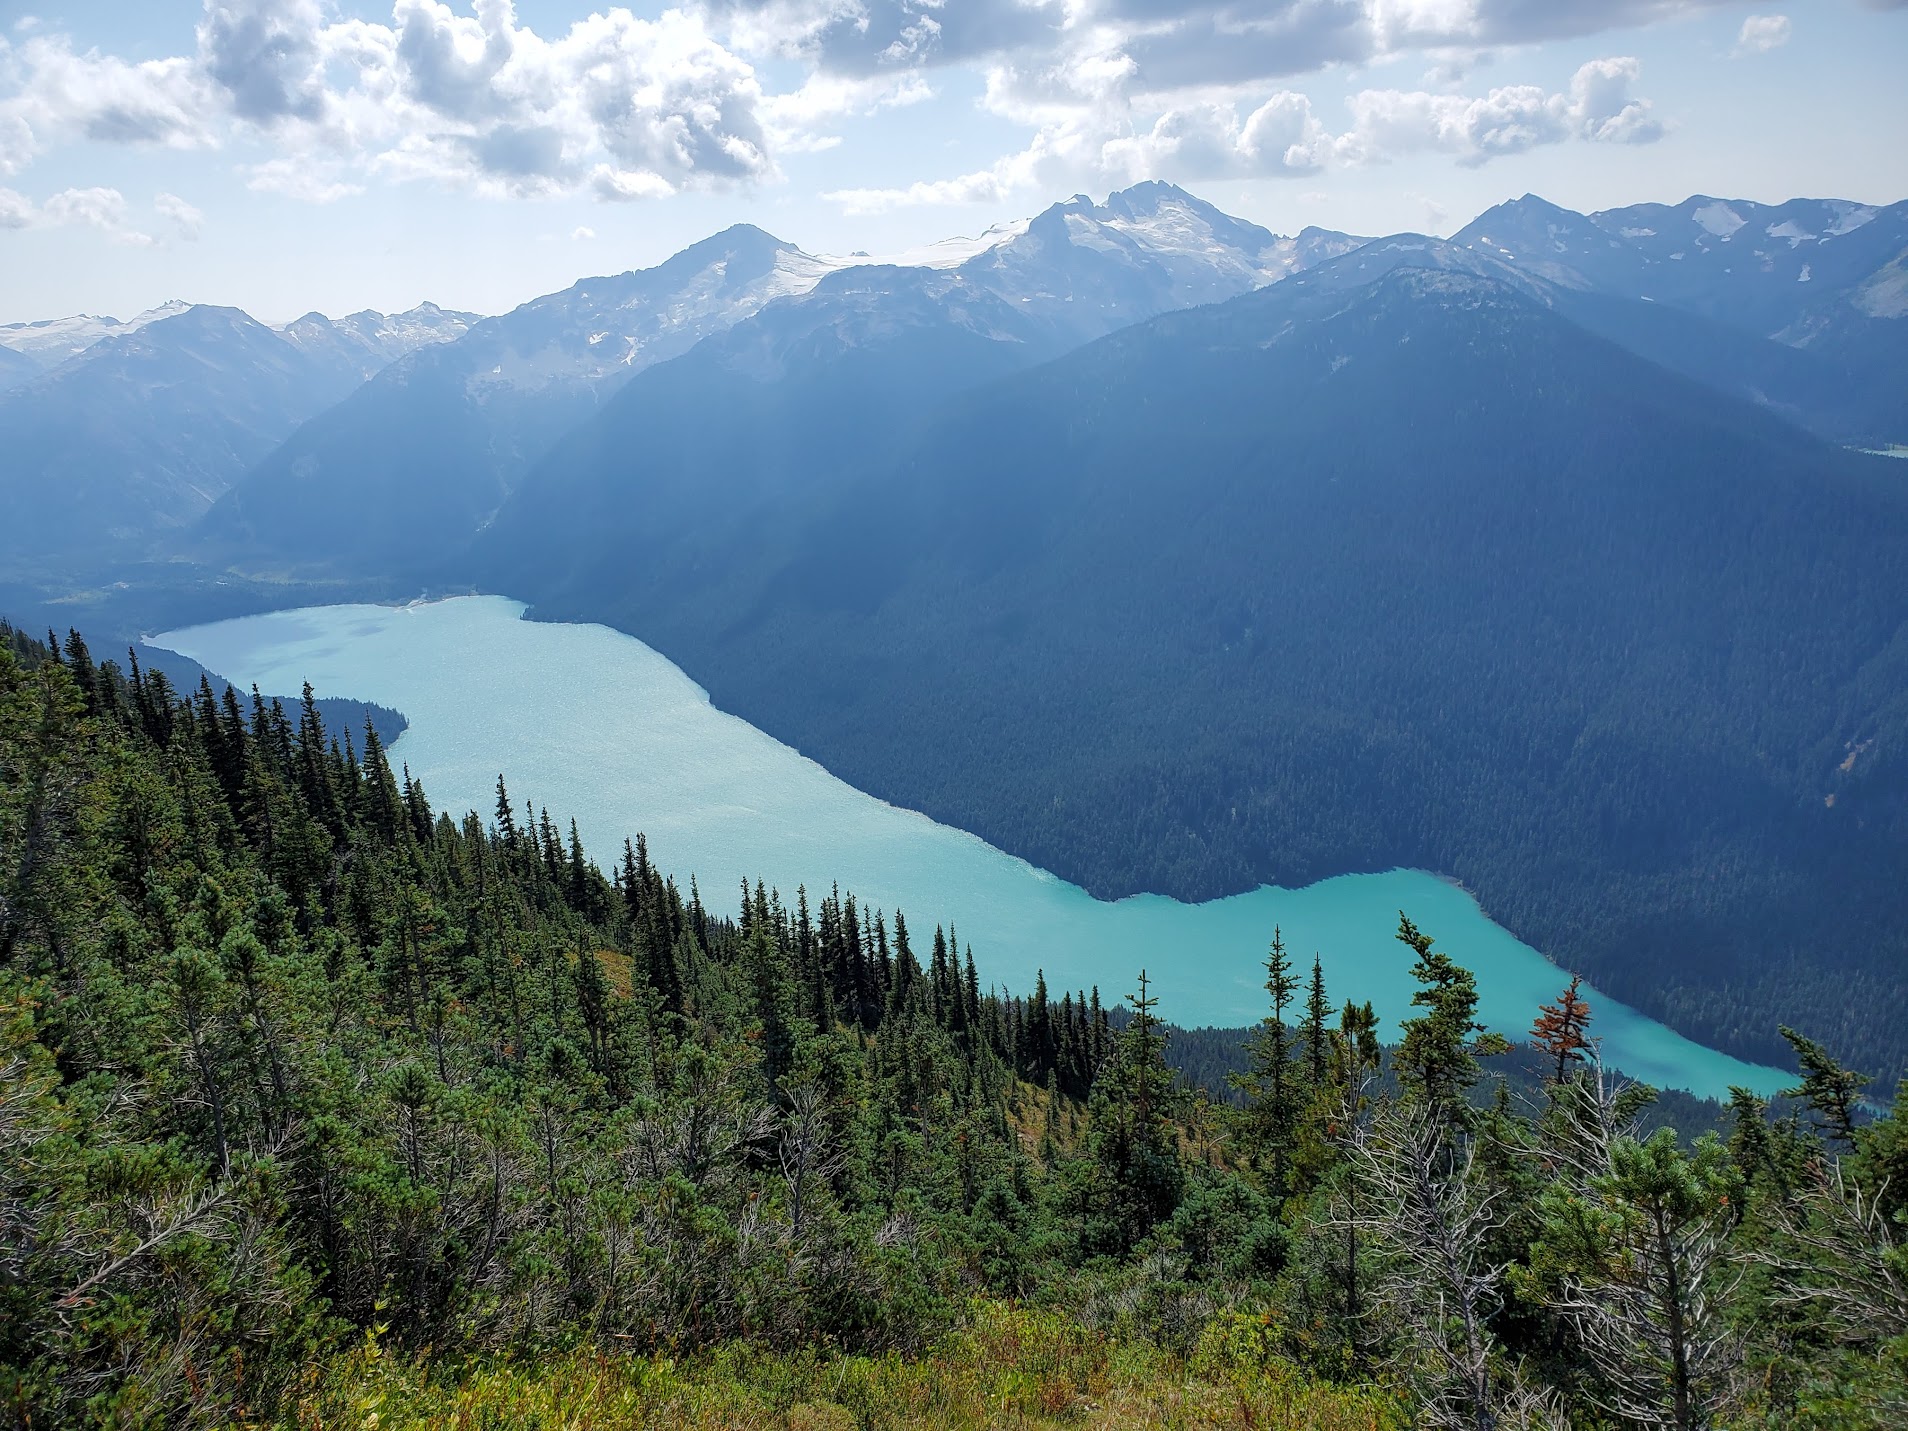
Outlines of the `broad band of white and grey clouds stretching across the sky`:
{"label": "broad band of white and grey clouds stretching across the sky", "polygon": [[[378,19],[328,0],[204,0],[187,55],[78,52],[46,27],[0,40],[0,176],[78,141],[263,147],[238,160],[252,187],[307,202],[374,183],[647,200],[775,181],[778,155],[841,143],[841,120],[925,99],[950,67],[983,76],[983,109],[1023,126],[1025,145],[983,172],[843,191],[843,204],[1301,176],[1410,153],[1484,164],[1658,137],[1637,61],[1595,59],[1561,92],[1366,90],[1345,116],[1318,114],[1296,86],[1397,55],[1456,76],[1496,48],[1721,2],[687,0],[540,34],[511,0],[395,0]],[[1773,48],[1786,25],[1752,17],[1742,46]]]}

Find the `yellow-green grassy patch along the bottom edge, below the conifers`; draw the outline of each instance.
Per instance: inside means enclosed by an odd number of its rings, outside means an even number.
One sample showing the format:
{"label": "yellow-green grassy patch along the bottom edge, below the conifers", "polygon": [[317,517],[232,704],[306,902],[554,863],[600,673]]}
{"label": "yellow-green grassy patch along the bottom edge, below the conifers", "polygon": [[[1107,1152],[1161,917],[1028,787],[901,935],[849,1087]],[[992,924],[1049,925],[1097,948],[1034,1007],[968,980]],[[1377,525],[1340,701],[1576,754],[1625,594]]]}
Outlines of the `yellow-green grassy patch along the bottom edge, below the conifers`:
{"label": "yellow-green grassy patch along the bottom edge, below the conifers", "polygon": [[1267,1355],[1254,1318],[1213,1322],[1191,1358],[1044,1311],[985,1305],[920,1358],[733,1347],[672,1360],[578,1349],[445,1364],[376,1341],[313,1376],[284,1427],[332,1431],[859,1431],[864,1427],[1307,1427],[1393,1431],[1374,1387],[1330,1387]]}

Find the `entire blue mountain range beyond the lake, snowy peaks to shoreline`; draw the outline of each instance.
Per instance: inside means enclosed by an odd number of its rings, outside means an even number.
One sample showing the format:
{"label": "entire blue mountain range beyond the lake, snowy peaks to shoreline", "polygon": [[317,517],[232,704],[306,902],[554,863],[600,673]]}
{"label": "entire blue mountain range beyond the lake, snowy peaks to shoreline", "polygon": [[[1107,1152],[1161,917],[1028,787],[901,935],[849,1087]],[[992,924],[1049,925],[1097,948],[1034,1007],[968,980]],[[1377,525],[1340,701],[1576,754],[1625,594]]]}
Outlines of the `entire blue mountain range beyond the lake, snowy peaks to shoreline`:
{"label": "entire blue mountain range beyond the lake, snowy peaks to shoreline", "polygon": [[42,521],[609,622],[1097,895],[1416,864],[1683,1032],[1902,1070],[1908,464],[1851,448],[1908,445],[1904,263],[1908,204],[1364,240],[1141,185],[408,351],[174,313],[0,433],[44,408]]}

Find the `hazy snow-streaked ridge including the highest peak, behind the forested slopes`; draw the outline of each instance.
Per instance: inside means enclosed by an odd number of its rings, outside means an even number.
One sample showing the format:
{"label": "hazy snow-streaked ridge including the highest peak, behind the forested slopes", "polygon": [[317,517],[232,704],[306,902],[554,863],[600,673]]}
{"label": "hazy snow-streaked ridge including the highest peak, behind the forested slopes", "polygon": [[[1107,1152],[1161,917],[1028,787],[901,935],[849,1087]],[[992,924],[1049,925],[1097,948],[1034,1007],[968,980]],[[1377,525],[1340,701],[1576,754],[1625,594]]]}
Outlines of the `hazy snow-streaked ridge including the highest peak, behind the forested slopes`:
{"label": "hazy snow-streaked ridge including the highest peak, behind the forested slopes", "polygon": [[[393,364],[259,464],[212,513],[206,536],[214,553],[252,561],[334,565],[349,548],[425,570],[469,540],[565,433],[702,340],[735,330],[721,340],[723,363],[744,366],[807,363],[803,343],[866,353],[920,340],[985,351],[971,372],[981,378],[1238,296],[1357,242],[1322,231],[1280,238],[1170,185],[1105,206],[1078,197],[988,242],[906,263],[815,258],[738,225],[654,269],[588,279]],[[937,376],[964,382],[967,370]],[[338,529],[347,511],[349,536]]]}

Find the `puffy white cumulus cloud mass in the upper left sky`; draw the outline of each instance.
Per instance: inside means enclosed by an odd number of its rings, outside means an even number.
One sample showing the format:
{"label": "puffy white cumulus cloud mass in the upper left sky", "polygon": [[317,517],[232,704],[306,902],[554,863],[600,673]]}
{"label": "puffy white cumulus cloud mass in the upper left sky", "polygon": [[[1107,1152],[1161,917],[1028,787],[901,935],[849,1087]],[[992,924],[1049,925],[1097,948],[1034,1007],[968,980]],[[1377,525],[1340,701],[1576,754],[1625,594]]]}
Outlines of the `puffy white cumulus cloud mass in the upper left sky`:
{"label": "puffy white cumulus cloud mass in the upper left sky", "polygon": [[544,36],[511,0],[395,0],[387,25],[334,19],[322,0],[206,0],[191,55],[0,42],[0,174],[76,139],[242,132],[271,149],[246,170],[254,189],[317,202],[372,177],[500,197],[771,179],[763,109],[754,67],[685,10],[618,6]]}

